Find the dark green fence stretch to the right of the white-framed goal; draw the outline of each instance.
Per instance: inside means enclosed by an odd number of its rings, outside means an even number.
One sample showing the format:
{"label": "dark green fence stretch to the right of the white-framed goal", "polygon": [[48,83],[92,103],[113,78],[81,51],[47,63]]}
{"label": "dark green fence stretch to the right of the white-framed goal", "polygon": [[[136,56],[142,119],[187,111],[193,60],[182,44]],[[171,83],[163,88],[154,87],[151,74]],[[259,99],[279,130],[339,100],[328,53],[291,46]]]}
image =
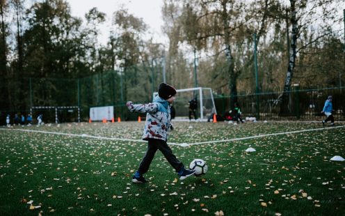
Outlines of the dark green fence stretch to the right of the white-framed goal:
{"label": "dark green fence stretch to the right of the white-framed goal", "polygon": [[[315,120],[324,118],[321,111],[328,97],[332,95],[332,105],[335,109],[334,116],[337,121],[345,120],[345,88],[318,88],[298,89],[289,93],[289,113],[280,114],[281,93],[259,93],[250,95],[238,95],[237,101],[242,110],[243,117],[256,117],[264,120]],[[257,97],[258,96],[258,97]],[[223,95],[215,96],[216,107],[219,114],[225,115],[230,111],[230,97]],[[257,106],[259,102],[259,106]],[[259,109],[259,110],[258,110]]]}

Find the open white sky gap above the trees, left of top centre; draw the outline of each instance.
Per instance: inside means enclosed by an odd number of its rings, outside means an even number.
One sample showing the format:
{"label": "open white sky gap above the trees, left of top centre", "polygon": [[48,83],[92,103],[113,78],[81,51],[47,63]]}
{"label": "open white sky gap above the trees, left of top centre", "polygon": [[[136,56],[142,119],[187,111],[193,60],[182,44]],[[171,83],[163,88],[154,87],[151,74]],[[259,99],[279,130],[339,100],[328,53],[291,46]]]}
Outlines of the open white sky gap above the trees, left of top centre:
{"label": "open white sky gap above the trees, left of top centre", "polygon": [[128,12],[135,17],[143,18],[145,24],[149,26],[155,43],[165,43],[166,36],[161,33],[163,20],[161,18],[161,7],[163,0],[67,0],[70,3],[72,15],[81,17],[85,20],[84,15],[96,7],[100,12],[106,13],[106,23],[99,26],[101,36],[99,41],[105,45],[109,36],[111,26],[111,17],[114,11],[121,6],[128,9]]}

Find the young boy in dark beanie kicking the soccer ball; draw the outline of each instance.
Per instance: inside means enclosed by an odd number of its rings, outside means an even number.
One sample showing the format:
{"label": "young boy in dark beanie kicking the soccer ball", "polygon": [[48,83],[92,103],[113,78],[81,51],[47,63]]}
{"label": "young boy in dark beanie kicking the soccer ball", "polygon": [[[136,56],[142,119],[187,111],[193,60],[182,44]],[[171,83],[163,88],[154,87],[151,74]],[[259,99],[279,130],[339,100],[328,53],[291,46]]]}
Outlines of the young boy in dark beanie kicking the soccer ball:
{"label": "young boy in dark beanie kicking the soccer ball", "polygon": [[184,180],[195,173],[195,170],[184,168],[184,164],[177,160],[166,143],[171,125],[170,105],[175,100],[175,94],[174,87],[161,83],[158,88],[158,96],[154,98],[152,103],[134,105],[133,102],[128,101],[126,104],[131,112],[147,113],[143,132],[143,139],[148,141],[147,151],[139,164],[138,171],[134,173],[133,183],[147,183],[143,174],[149,170],[154,154],[158,149],[177,171],[180,180]]}

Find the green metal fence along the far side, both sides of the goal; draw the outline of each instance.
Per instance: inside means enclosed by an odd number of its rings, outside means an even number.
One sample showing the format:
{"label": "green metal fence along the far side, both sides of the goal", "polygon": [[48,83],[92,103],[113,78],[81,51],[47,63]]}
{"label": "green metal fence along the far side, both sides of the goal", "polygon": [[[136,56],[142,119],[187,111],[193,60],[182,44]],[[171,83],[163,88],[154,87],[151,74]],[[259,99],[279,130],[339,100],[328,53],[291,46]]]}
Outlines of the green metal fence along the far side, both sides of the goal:
{"label": "green metal fence along the far side, both sides of the goal", "polygon": [[[139,70],[133,68],[133,72]],[[123,120],[136,120],[138,116],[129,114],[125,107],[127,98],[136,102],[150,102],[154,84],[143,82],[136,75],[138,83],[132,79],[122,77],[118,71],[105,72],[103,75],[93,75],[80,79],[51,79],[26,78],[13,84],[13,88],[20,87],[23,91],[11,91],[12,98],[19,98],[20,106],[15,109],[0,110],[0,124],[6,123],[6,116],[10,114],[11,122],[15,114],[26,116],[31,107],[79,107],[81,121],[88,121],[90,107],[114,106],[115,119],[119,116]],[[147,79],[145,79],[147,80]],[[155,81],[158,83],[158,81]],[[259,94],[237,95],[236,100],[242,109],[243,117],[253,116],[259,120],[321,120],[324,102],[328,95],[333,96],[335,119],[345,120],[344,87],[298,89],[293,87],[289,93],[289,113],[280,114],[279,96],[281,92],[262,92]],[[214,95],[218,114],[224,116],[230,107],[230,95]],[[3,105],[6,101],[3,101]],[[1,102],[1,103],[2,103]],[[58,115],[63,121],[77,121],[77,109],[61,109]],[[56,111],[41,110],[47,123],[56,122]],[[38,112],[33,113],[33,120]],[[60,119],[59,119],[60,120]]]}

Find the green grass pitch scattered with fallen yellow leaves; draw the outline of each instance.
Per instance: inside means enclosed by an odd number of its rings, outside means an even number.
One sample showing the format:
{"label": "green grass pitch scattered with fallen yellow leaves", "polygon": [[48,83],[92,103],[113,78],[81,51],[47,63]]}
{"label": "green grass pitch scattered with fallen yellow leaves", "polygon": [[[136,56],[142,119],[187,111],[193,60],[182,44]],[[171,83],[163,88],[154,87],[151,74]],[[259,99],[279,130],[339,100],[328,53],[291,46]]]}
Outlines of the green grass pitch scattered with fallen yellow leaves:
{"label": "green grass pitch scattered with fallen yellow leaves", "polygon": [[[191,126],[191,127],[190,127]],[[195,143],[294,130],[316,123],[175,123],[169,141]],[[141,139],[143,123],[81,123],[17,129]],[[344,215],[345,128],[219,144],[171,146],[188,166],[202,158],[202,178],[177,180],[157,152],[145,178],[131,175],[146,150],[109,141],[0,130],[0,215]],[[251,146],[257,151],[246,153]],[[33,201],[30,210],[28,201]],[[221,212],[220,212],[221,211]],[[278,214],[278,215],[279,215]]]}

